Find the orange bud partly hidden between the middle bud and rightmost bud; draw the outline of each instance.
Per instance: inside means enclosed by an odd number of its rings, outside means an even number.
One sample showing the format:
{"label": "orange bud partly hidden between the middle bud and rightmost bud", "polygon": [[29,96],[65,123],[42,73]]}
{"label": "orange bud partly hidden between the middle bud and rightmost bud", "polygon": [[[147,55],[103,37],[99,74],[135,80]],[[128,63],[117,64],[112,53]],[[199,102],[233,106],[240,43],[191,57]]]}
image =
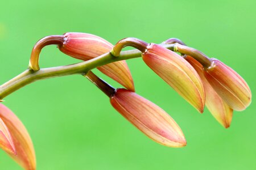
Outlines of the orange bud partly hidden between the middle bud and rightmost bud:
{"label": "orange bud partly hidden between the middle bud and rightmost bud", "polygon": [[217,94],[213,87],[209,84],[204,76],[203,65],[201,65],[195,58],[191,56],[186,56],[185,59],[195,68],[199,74],[205,90],[205,105],[212,113],[213,117],[225,128],[229,128],[233,109]]}

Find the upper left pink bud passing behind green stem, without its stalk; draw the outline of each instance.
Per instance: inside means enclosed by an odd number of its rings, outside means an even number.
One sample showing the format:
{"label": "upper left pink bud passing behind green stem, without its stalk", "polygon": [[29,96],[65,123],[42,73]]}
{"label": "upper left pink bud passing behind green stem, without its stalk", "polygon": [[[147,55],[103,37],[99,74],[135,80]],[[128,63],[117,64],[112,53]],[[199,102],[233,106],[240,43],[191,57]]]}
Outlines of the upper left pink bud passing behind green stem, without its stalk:
{"label": "upper left pink bud passing behind green stem, without its stalk", "polygon": [[[84,61],[110,52],[113,45],[101,37],[89,33],[68,32],[64,34],[64,43],[59,45],[61,52]],[[98,67],[102,73],[116,80],[124,87],[134,91],[133,78],[126,61],[118,61]]]}

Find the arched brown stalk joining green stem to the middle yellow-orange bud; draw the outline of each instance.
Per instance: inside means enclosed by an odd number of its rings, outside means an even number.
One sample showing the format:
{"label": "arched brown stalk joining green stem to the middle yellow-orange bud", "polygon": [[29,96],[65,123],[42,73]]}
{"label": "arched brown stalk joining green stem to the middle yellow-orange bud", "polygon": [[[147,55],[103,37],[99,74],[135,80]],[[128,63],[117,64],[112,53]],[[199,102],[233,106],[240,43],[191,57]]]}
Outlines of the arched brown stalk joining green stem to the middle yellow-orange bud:
{"label": "arched brown stalk joining green stem to the middle yellow-orange bud", "polygon": [[142,40],[134,38],[134,37],[129,37],[129,38],[122,39],[122,40],[118,41],[110,53],[113,56],[118,57],[121,53],[121,50],[123,48],[125,48],[126,46],[133,46],[134,48],[137,48],[142,53],[144,53],[145,50],[147,49],[147,45],[148,45],[148,43],[145,41],[142,41]]}

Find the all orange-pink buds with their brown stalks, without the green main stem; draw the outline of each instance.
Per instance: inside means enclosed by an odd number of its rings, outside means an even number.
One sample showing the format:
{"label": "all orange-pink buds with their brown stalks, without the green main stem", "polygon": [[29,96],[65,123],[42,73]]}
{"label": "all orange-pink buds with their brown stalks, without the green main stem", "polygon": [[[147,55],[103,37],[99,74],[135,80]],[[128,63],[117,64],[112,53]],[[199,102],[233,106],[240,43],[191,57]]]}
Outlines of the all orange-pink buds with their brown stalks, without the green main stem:
{"label": "all orange-pink buds with their brown stalks, without the green main stem", "polygon": [[[39,54],[44,46],[52,44],[68,56],[88,62],[106,53],[112,58],[121,57],[121,50],[125,46],[133,46],[141,51],[144,63],[181,97],[200,113],[204,112],[206,105],[225,128],[230,126],[233,111],[243,111],[251,102],[250,88],[236,71],[178,39],[168,39],[162,44],[148,44],[139,39],[126,38],[112,45],[88,33],[47,36],[32,49],[29,65],[31,71],[36,73],[40,70]],[[167,44],[170,49],[166,48]],[[135,93],[133,78],[124,60],[109,62],[97,69],[125,88],[110,86],[92,71],[84,76],[109,97],[111,105],[131,124],[164,146],[184,147],[187,144],[181,128],[168,113]],[[24,169],[35,169],[35,151],[26,128],[2,104],[0,147]]]}

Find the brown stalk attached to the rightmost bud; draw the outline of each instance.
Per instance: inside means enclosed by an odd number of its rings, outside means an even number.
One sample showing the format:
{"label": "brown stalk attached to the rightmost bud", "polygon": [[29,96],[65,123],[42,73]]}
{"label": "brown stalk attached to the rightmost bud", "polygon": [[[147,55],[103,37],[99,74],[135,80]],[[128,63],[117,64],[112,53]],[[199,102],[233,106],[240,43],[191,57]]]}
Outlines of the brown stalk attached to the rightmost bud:
{"label": "brown stalk attached to the rightmost bud", "polygon": [[204,53],[200,52],[199,50],[197,50],[195,48],[191,48],[189,46],[185,46],[185,45],[175,43],[174,52],[187,54],[187,55],[195,58],[204,67],[209,67],[212,64],[212,61],[210,60],[210,58],[207,57]]}

